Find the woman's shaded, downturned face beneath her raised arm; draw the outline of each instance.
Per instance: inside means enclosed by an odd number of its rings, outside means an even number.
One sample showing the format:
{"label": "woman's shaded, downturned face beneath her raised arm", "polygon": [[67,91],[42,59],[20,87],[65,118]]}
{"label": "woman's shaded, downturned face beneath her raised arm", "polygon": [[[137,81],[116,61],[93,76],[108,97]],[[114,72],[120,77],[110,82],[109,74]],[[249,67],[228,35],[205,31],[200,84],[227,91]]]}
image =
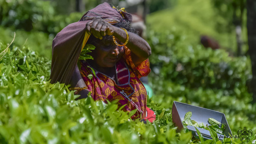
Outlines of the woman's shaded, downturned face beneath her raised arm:
{"label": "woman's shaded, downturned face beneath her raised arm", "polygon": [[[100,67],[113,67],[122,58],[124,47],[117,46],[113,39],[97,39],[94,42],[95,50],[92,50],[94,62]],[[117,40],[119,44],[122,44]]]}

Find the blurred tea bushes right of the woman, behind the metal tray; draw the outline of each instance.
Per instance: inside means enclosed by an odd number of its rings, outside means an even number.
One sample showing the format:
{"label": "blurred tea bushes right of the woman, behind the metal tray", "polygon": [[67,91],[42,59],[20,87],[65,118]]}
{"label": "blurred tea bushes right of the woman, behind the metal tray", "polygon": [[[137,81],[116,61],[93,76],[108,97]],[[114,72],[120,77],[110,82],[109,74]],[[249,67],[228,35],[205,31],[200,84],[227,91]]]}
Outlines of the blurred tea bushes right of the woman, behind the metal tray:
{"label": "blurred tea bushes right of the woman, behind the metal tray", "polygon": [[178,31],[151,31],[147,42],[153,53],[149,81],[154,102],[170,108],[179,101],[223,112],[233,134],[242,125],[256,129],[256,104],[250,103],[246,85],[251,78],[249,58],[191,45]]}

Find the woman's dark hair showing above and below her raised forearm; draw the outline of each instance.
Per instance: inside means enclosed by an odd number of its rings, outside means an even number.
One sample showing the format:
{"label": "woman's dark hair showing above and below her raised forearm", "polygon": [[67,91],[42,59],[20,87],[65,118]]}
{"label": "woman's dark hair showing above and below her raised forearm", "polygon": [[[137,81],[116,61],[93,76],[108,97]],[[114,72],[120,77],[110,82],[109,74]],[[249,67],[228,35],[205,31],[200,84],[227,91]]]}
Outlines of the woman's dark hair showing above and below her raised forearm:
{"label": "woman's dark hair showing above and below her raised forearm", "polygon": [[[125,28],[128,32],[138,34],[138,31],[136,31],[135,28],[132,27],[131,22],[129,22],[127,19],[125,19],[125,21],[123,21],[123,22],[119,22],[119,23],[114,24],[114,26],[116,26],[118,28]],[[97,38],[95,38],[95,36],[91,35],[89,37],[88,41],[87,41],[87,44],[95,45],[95,44],[98,44],[99,41],[104,42],[104,41],[110,40],[110,39],[113,39],[113,38],[112,38],[112,36],[109,36],[109,35],[103,36],[102,40],[97,39]]]}

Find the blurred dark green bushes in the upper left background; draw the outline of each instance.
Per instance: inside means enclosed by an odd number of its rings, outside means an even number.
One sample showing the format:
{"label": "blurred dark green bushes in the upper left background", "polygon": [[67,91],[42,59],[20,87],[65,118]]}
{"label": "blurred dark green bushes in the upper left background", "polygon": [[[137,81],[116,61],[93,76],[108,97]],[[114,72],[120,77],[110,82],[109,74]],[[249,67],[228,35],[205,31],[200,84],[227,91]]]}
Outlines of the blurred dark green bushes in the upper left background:
{"label": "blurred dark green bushes in the upper left background", "polygon": [[0,0],[0,25],[12,29],[57,34],[83,14],[56,14],[55,3],[45,0]]}

